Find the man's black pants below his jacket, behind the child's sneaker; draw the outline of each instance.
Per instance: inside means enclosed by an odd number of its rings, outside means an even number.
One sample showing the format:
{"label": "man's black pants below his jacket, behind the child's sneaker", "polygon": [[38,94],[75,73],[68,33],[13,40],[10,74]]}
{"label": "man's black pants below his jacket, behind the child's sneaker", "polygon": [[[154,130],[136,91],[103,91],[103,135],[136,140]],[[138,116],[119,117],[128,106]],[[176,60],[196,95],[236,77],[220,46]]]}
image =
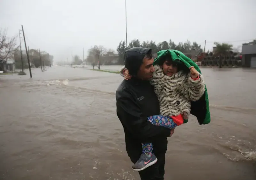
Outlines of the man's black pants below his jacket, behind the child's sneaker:
{"label": "man's black pants below his jacket, behind the child's sneaker", "polygon": [[[158,155],[156,164],[139,171],[141,180],[164,180],[164,164],[165,154]],[[140,157],[130,157],[132,162],[135,164]]]}

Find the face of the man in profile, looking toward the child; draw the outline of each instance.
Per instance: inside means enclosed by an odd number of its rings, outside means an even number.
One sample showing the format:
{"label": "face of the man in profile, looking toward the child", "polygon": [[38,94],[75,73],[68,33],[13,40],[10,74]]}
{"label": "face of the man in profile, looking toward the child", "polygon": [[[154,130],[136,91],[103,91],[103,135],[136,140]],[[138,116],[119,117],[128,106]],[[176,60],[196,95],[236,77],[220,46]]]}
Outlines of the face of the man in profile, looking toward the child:
{"label": "face of the man in profile, looking toward the child", "polygon": [[145,56],[143,63],[140,65],[140,70],[138,71],[138,78],[142,80],[149,80],[152,78],[155,68],[153,66],[154,59],[152,56]]}

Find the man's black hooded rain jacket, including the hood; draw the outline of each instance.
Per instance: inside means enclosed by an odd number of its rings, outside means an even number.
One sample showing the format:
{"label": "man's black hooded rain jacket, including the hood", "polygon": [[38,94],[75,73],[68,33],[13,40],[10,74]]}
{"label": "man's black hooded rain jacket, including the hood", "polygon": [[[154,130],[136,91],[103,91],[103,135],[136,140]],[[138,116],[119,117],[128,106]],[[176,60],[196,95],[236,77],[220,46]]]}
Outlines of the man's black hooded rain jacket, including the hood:
{"label": "man's black hooded rain jacket, including the hood", "polygon": [[[148,51],[151,49],[136,47],[125,52],[124,64],[131,75],[137,74]],[[131,160],[140,157],[142,142],[152,142],[156,156],[165,154],[171,130],[148,122],[148,116],[160,114],[159,102],[149,81],[123,80],[116,90],[116,113],[124,127],[126,151]]]}

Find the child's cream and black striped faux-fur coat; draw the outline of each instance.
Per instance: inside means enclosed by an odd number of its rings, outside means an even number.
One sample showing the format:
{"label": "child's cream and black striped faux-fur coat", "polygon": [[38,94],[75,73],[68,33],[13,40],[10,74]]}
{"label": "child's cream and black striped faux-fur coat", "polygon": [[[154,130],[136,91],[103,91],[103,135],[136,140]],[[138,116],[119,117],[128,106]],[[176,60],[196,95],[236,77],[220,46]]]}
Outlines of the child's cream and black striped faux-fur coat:
{"label": "child's cream and black striped faux-fur coat", "polygon": [[[179,71],[172,76],[164,74],[159,65],[155,65],[155,72],[150,82],[154,86],[157,95],[160,114],[163,116],[182,115],[188,119],[190,115],[191,101],[199,100],[205,91],[204,77],[200,74],[199,79],[192,79],[190,74]],[[124,76],[122,67],[120,74]]]}

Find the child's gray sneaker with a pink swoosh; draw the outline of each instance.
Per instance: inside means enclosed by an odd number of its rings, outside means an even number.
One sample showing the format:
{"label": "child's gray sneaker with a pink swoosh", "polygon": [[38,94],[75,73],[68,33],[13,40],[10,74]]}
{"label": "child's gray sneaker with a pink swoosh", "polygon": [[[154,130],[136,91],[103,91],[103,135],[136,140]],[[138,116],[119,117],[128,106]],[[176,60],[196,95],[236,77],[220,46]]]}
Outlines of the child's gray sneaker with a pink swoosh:
{"label": "child's gray sneaker with a pink swoosh", "polygon": [[140,155],[140,159],[132,165],[132,169],[135,171],[142,171],[149,166],[152,166],[157,162],[157,158],[155,154],[153,153],[151,157],[146,156],[145,154]]}

